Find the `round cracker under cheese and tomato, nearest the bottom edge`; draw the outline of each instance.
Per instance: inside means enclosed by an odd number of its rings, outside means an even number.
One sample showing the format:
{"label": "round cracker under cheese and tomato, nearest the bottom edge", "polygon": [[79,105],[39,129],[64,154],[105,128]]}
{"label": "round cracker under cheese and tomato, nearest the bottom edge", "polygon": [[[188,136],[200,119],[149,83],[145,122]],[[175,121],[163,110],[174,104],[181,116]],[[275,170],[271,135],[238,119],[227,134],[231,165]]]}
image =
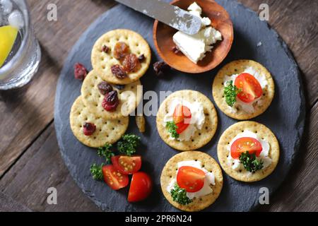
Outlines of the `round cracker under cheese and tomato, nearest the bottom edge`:
{"label": "round cracker under cheese and tomato, nearest the bottom edge", "polygon": [[[167,186],[170,184],[172,178],[177,177],[177,163],[188,160],[199,160],[202,163],[202,167],[208,170],[208,172],[213,172],[216,184],[211,186],[211,189],[213,189],[211,194],[202,196],[201,198],[194,198],[192,203],[189,203],[188,205],[181,205],[173,201],[170,192],[167,191]],[[199,211],[211,206],[211,204],[214,203],[216,198],[220,195],[223,187],[222,170],[220,169],[218,162],[216,162],[216,160],[214,160],[210,155],[200,151],[187,151],[179,153],[167,161],[163,168],[163,172],[161,173],[160,184],[163,195],[172,206],[175,206],[175,208],[178,208],[179,210],[189,212]]]}

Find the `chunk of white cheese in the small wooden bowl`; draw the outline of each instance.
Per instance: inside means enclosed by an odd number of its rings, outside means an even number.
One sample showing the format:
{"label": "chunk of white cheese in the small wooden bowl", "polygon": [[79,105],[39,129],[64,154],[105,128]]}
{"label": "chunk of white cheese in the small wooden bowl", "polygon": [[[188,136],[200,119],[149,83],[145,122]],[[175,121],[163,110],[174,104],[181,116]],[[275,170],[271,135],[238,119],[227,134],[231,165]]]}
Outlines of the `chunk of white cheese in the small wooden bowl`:
{"label": "chunk of white cheese in the small wooden bowl", "polygon": [[[196,2],[191,4],[188,10],[189,13],[201,18],[202,8]],[[194,64],[204,59],[206,52],[211,52],[213,44],[222,40],[221,33],[210,26],[211,20],[209,18],[201,18],[201,22],[202,28],[197,34],[187,35],[184,32],[178,31],[173,36],[173,42]]]}

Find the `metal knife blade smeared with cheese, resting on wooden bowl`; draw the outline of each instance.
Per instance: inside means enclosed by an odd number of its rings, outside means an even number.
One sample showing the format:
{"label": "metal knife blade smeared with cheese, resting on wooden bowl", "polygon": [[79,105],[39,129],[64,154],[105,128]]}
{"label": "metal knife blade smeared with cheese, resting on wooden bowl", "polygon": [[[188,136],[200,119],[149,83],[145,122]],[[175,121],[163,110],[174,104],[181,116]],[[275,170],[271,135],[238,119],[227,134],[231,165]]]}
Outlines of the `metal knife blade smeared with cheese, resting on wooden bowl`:
{"label": "metal knife blade smeared with cheese, resting on wooden bowl", "polygon": [[201,29],[201,18],[160,0],[116,1],[188,35],[194,35]]}

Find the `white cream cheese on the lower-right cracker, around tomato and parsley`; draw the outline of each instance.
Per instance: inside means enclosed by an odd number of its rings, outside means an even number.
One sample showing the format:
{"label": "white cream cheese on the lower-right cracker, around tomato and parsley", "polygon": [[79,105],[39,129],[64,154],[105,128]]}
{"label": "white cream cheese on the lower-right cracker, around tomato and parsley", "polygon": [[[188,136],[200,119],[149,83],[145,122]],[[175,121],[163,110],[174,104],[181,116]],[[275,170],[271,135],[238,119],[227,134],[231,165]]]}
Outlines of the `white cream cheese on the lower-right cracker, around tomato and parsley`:
{"label": "white cream cheese on the lower-right cracker, around tomato and parsley", "polygon": [[244,166],[242,165],[240,160],[233,159],[231,156],[232,143],[234,143],[234,141],[236,141],[238,138],[242,138],[242,137],[254,138],[257,141],[259,141],[259,143],[261,143],[261,147],[263,148],[263,150],[261,150],[261,154],[259,155],[259,157],[257,157],[257,159],[263,160],[263,169],[265,169],[266,167],[269,167],[269,165],[271,165],[271,162],[272,162],[271,158],[269,157],[269,149],[271,148],[269,145],[269,142],[259,138],[259,136],[257,136],[257,133],[253,133],[252,131],[249,131],[249,130],[245,130],[244,132],[237,134],[237,136],[235,136],[235,138],[232,138],[232,141],[230,141],[230,144],[227,147],[229,152],[228,165],[231,165],[232,169],[234,169],[235,171],[240,171],[244,169]]}

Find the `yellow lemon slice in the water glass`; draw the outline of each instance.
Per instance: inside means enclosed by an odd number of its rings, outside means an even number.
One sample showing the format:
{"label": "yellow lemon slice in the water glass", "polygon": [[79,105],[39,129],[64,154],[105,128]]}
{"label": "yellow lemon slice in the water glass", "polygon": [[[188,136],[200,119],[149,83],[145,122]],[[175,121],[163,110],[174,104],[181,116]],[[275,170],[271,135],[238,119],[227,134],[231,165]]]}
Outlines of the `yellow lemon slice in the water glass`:
{"label": "yellow lemon slice in the water glass", "polygon": [[10,54],[17,35],[18,29],[10,25],[0,28],[0,67]]}

